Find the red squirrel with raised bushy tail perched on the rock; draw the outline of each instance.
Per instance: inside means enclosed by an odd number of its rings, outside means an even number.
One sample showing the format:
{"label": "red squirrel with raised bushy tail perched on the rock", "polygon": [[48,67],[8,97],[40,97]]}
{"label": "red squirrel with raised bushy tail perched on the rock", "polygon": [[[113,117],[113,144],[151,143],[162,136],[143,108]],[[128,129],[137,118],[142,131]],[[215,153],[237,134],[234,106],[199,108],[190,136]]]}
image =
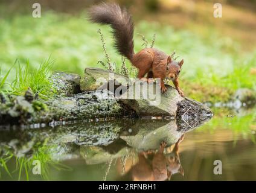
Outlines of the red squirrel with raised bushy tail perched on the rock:
{"label": "red squirrel with raised bushy tail perched on the rock", "polygon": [[118,53],[130,60],[133,66],[138,68],[138,78],[161,78],[161,91],[166,92],[164,79],[173,81],[176,90],[181,96],[184,93],[179,87],[179,72],[184,60],[176,62],[170,55],[155,48],[145,48],[135,53],[133,48],[134,24],[132,17],[126,8],[121,9],[117,4],[101,3],[89,9],[89,19],[98,24],[107,24],[112,27],[115,37],[115,48]]}

